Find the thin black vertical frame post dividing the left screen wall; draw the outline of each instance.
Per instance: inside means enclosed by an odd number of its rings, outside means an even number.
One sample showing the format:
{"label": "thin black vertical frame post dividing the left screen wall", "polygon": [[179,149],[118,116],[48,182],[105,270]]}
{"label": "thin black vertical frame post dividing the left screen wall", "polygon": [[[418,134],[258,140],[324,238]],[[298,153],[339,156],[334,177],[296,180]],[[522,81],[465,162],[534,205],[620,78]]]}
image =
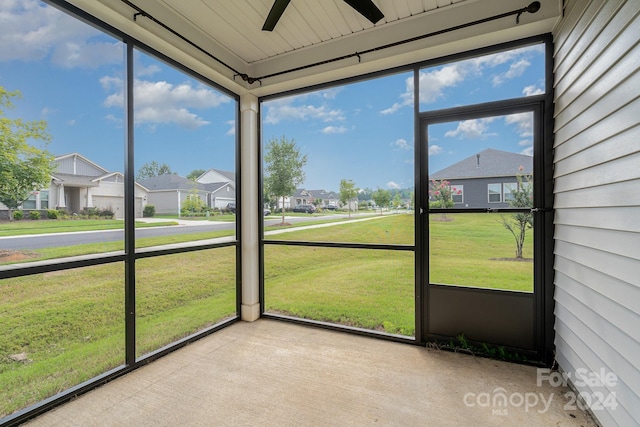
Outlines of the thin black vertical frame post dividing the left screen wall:
{"label": "thin black vertical frame post dividing the left screen wall", "polygon": [[124,155],[124,250],[125,261],[125,361],[136,362],[136,269],[135,269],[135,164],[133,156],[133,43],[127,42],[125,59],[125,155]]}

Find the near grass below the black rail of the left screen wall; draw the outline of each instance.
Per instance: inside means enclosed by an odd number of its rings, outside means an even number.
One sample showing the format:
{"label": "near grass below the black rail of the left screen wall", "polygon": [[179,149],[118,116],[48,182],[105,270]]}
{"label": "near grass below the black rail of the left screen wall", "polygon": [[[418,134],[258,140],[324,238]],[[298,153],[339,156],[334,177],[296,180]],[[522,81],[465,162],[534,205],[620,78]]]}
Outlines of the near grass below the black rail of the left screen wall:
{"label": "near grass below the black rail of the left screen wall", "polygon": [[[137,355],[235,315],[235,248],[139,260]],[[0,418],[124,363],[124,264],[0,281]]]}

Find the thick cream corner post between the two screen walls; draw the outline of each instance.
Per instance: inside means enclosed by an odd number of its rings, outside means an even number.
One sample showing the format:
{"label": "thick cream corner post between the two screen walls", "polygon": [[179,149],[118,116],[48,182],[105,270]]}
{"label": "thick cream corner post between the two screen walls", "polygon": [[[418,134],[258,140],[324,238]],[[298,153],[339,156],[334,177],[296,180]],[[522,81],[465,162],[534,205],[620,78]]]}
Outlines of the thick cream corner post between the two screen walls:
{"label": "thick cream corner post between the two screen walls", "polygon": [[[242,191],[236,210],[240,214],[242,248],[242,304],[240,318],[253,322],[260,318],[259,242],[262,209],[258,206],[258,98],[240,97],[240,181]],[[258,215],[260,214],[260,215]]]}

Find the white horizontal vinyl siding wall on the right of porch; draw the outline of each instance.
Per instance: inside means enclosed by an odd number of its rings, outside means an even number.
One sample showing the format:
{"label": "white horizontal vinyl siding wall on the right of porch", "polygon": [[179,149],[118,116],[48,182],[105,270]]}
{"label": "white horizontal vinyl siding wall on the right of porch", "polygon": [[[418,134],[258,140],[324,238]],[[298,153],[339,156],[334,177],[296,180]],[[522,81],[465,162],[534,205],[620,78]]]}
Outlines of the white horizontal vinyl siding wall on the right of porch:
{"label": "white horizontal vinyl siding wall on the right of porch", "polygon": [[570,0],[554,30],[556,359],[617,376],[604,426],[640,423],[639,15]]}

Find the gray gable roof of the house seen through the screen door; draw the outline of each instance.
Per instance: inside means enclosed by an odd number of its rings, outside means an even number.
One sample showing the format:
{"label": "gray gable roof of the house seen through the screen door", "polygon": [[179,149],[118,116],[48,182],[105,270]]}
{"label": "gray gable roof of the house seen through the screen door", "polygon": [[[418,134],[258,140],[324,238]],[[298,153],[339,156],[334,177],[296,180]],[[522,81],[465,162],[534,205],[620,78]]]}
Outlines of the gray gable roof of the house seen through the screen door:
{"label": "gray gable roof of the house seen through the screen door", "polygon": [[[524,169],[520,170],[520,167]],[[533,173],[533,156],[487,148],[429,174],[429,179],[470,179]]]}

